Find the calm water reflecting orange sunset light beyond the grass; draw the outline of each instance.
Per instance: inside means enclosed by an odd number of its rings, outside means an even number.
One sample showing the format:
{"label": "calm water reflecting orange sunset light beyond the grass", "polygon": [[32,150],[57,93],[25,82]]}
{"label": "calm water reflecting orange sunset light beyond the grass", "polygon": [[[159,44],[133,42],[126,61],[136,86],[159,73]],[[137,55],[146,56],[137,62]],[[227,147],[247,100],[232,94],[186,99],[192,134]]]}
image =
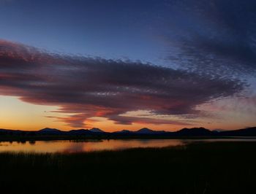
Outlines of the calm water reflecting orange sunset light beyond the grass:
{"label": "calm water reflecting orange sunset light beyond the grass", "polygon": [[111,139],[100,141],[26,141],[0,142],[0,152],[91,152],[124,150],[135,147],[173,147],[193,141],[256,141],[256,139]]}

